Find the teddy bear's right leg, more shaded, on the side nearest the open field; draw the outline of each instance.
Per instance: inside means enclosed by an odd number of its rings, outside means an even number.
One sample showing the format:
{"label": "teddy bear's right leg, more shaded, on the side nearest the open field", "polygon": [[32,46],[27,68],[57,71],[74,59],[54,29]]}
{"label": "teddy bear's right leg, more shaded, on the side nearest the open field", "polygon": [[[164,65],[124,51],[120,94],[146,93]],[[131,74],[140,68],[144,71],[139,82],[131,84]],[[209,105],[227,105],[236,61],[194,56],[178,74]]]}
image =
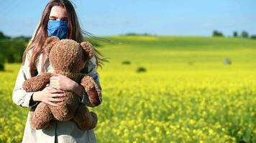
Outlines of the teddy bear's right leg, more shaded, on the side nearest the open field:
{"label": "teddy bear's right leg, more shaded, on the side nearest the open field", "polygon": [[80,129],[93,129],[96,127],[98,122],[97,114],[94,112],[90,112],[87,107],[80,104],[78,110],[76,111],[74,121],[78,124]]}

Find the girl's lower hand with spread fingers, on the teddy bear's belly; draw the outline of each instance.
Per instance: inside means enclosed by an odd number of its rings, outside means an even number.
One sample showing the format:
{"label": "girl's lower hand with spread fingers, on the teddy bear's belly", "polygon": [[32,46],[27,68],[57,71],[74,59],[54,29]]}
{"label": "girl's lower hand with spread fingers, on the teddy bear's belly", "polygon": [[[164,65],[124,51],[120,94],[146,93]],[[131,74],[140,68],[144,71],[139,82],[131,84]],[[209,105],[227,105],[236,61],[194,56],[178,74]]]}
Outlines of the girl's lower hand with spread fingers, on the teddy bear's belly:
{"label": "girl's lower hand with spread fingers, on the teddy bear's belly", "polygon": [[65,97],[64,91],[60,89],[54,89],[52,87],[45,87],[45,89],[42,91],[35,92],[32,98],[35,102],[44,102],[52,106],[58,106],[53,102],[63,102],[63,99],[56,99],[55,97]]}

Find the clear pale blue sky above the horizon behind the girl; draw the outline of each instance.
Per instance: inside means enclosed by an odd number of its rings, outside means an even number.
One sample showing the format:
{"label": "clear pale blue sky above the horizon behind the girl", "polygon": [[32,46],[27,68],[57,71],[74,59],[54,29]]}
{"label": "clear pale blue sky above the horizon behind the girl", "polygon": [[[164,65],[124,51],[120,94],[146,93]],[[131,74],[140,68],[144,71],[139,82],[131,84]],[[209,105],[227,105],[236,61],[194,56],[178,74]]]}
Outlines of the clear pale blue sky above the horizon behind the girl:
{"label": "clear pale blue sky above the horizon behind the girl", "polygon": [[[230,36],[256,34],[255,0],[73,0],[81,26],[96,36],[148,33],[211,36],[214,29]],[[0,31],[31,36],[47,1],[0,1]]]}

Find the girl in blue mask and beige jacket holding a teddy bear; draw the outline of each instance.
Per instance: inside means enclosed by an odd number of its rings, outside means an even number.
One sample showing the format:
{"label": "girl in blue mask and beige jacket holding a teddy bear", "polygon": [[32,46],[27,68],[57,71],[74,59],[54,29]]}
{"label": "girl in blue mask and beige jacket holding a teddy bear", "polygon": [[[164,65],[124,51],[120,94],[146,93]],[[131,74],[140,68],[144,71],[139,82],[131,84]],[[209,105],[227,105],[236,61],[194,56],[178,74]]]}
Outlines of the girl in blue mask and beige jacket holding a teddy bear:
{"label": "girl in blue mask and beige jacket holding a teddy bear", "polygon": [[[25,92],[22,89],[22,84],[25,80],[52,70],[49,60],[44,54],[43,44],[47,36],[53,35],[58,36],[60,39],[73,39],[78,41],[78,43],[83,41],[82,30],[78,23],[76,11],[68,0],[52,0],[45,6],[40,24],[38,24],[27,49],[24,51],[22,66],[19,69],[12,92],[13,102],[21,107],[34,107],[39,102],[58,106],[55,102],[63,102],[63,100],[55,99],[55,97],[63,97],[63,91],[73,91],[81,97],[80,102],[82,104],[95,107],[91,104],[83,87],[60,74],[51,77],[49,87],[45,87],[40,92]],[[86,62],[82,72],[93,77],[101,89],[96,67],[101,66],[102,61],[106,60],[99,58],[99,56],[102,56],[99,51],[96,49],[94,51],[95,56]],[[98,98],[101,102],[101,97]],[[49,127],[35,130],[30,127],[29,114],[27,117],[22,142],[96,142],[93,129],[83,131],[78,128],[73,120],[67,122],[52,120]]]}

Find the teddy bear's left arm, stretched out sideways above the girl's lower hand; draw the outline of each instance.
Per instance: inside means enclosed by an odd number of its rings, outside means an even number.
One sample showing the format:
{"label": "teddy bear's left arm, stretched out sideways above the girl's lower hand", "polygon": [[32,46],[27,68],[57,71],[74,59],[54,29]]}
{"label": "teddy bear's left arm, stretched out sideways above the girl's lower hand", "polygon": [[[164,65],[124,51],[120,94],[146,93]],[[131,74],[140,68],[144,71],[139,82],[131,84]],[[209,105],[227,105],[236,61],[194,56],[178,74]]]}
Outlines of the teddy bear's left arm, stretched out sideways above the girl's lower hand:
{"label": "teddy bear's left arm, stretched out sideways above the girl's lower hand", "polygon": [[37,92],[45,88],[45,86],[50,82],[51,73],[44,73],[27,79],[23,83],[23,89],[26,92]]}

